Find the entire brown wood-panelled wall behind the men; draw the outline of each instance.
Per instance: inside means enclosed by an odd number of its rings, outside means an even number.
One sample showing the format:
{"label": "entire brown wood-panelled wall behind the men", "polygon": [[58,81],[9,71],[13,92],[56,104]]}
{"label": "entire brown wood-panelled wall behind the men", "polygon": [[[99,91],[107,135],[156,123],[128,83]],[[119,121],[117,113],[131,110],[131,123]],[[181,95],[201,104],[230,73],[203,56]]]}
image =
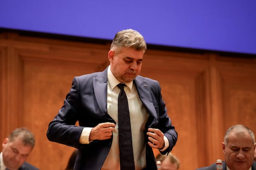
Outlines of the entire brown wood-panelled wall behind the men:
{"label": "entire brown wood-panelled wall behind the men", "polygon": [[[49,142],[48,124],[74,76],[109,65],[109,47],[1,33],[0,137],[28,127],[36,137],[28,161],[42,170],[63,170],[74,149]],[[223,159],[221,142],[231,125],[244,124],[256,132],[255,58],[148,49],[141,75],[160,82],[178,132],[172,152],[180,159],[180,170]]]}

